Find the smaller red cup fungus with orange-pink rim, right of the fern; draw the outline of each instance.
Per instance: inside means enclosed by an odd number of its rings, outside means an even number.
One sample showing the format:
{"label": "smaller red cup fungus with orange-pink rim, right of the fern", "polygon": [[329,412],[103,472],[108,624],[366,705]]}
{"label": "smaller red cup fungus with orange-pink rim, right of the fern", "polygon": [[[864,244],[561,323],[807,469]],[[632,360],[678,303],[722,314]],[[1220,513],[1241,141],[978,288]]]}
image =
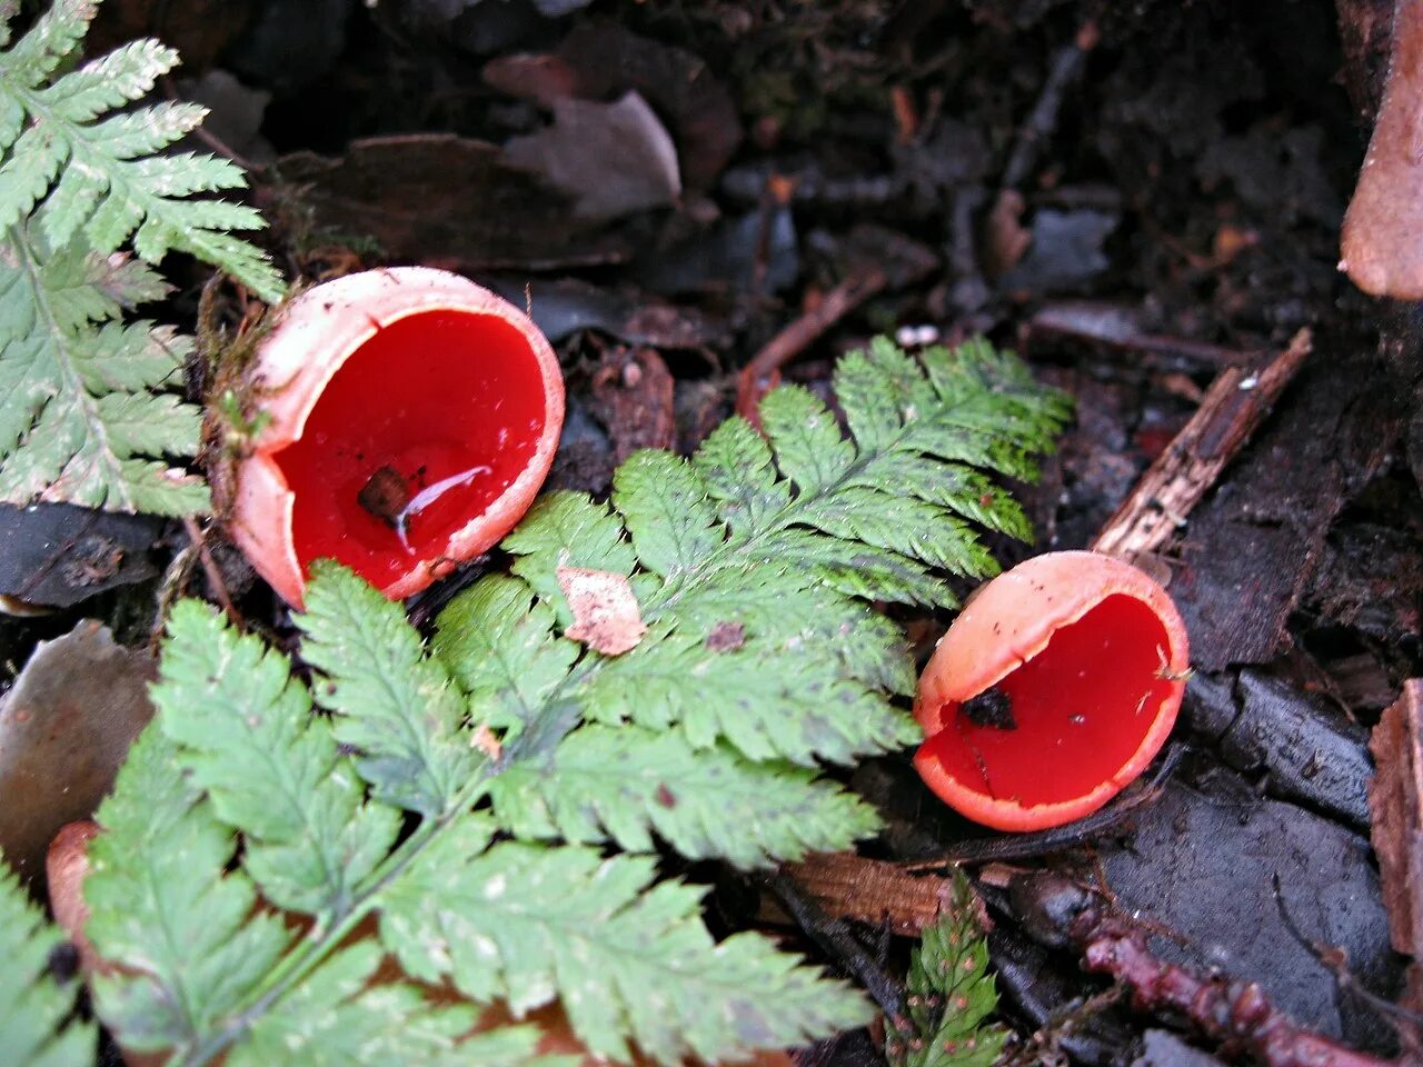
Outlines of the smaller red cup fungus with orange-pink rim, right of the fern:
{"label": "smaller red cup fungus with orange-pink rim, right of the fern", "polygon": [[919,677],[914,758],[955,811],[996,829],[1081,818],[1160,751],[1188,670],[1165,590],[1096,552],[1049,552],[995,578]]}

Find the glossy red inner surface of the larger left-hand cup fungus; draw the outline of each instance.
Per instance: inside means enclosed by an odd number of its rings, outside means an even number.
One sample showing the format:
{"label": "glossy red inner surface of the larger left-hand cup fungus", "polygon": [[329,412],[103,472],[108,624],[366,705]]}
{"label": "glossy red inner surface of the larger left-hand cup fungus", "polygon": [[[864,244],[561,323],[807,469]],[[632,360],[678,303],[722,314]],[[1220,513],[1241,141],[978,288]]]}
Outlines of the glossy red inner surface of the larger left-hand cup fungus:
{"label": "glossy red inner surface of the larger left-hand cup fungus", "polygon": [[[435,310],[384,327],[336,371],[300,440],[276,455],[296,494],[303,572],[332,558],[386,586],[437,559],[528,465],[544,418],[538,360],[502,319]],[[360,501],[381,468],[404,487],[398,515]]]}

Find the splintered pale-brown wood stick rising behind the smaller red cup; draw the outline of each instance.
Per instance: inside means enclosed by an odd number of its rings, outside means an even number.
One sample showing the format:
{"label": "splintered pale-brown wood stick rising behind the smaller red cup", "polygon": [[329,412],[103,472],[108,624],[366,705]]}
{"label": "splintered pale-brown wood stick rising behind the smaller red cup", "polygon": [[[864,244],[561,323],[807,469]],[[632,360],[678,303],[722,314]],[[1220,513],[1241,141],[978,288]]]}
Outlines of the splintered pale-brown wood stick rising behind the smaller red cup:
{"label": "splintered pale-brown wood stick rising behind the smaller red cup", "polygon": [[1221,371],[1191,421],[1107,519],[1093,549],[1136,561],[1165,545],[1271,413],[1311,346],[1305,329],[1258,374],[1239,367]]}

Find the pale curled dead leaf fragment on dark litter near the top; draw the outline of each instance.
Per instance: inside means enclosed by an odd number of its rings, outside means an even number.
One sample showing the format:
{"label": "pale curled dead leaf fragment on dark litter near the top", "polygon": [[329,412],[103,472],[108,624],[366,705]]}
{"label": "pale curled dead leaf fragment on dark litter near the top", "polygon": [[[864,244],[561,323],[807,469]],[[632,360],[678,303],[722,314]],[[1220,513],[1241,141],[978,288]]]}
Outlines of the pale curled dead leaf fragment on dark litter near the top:
{"label": "pale curled dead leaf fragment on dark litter near the top", "polygon": [[647,101],[554,102],[554,125],[504,147],[504,161],[573,198],[573,215],[616,219],[666,208],[682,195],[677,149]]}

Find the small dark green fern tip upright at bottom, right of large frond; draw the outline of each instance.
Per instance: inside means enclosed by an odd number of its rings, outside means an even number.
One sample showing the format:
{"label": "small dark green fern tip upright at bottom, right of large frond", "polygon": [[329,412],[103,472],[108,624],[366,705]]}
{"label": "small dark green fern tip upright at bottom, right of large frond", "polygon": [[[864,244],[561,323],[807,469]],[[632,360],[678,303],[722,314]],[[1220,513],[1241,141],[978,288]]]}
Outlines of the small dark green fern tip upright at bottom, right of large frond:
{"label": "small dark green fern tip upright at bottom, right of large frond", "polygon": [[891,1067],[992,1067],[998,1061],[1007,1030],[983,1023],[998,1007],[998,992],[973,891],[959,872],[942,918],[924,930],[911,955],[906,987],[908,1026],[888,1024]]}

